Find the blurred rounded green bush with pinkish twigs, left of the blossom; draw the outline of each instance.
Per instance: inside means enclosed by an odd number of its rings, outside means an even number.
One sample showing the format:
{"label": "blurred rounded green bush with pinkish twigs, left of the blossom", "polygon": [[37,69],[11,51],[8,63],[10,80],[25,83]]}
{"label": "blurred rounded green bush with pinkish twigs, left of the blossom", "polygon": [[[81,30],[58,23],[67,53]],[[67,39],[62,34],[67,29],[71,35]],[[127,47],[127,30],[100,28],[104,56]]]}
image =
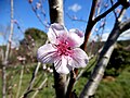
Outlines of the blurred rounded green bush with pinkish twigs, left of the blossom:
{"label": "blurred rounded green bush with pinkish twigs, left of the blossom", "polygon": [[[47,34],[38,28],[28,28],[20,47],[10,52],[9,63],[17,63],[17,57],[26,59],[26,62],[36,62],[37,49],[47,41]],[[23,60],[18,60],[23,63]]]}

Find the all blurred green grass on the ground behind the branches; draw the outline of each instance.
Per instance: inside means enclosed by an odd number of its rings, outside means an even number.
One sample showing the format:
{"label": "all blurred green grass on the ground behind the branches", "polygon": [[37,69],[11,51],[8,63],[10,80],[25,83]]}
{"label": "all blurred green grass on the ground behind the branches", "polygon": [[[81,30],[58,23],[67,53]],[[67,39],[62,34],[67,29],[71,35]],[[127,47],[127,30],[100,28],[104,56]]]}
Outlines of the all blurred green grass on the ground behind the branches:
{"label": "all blurred green grass on the ground behind the branches", "polygon": [[[24,69],[24,75],[23,75],[23,82],[22,82],[22,88],[20,96],[22,96],[25,91],[25,89],[28,87],[28,84],[31,78],[31,73],[35,69],[35,65],[27,65]],[[8,98],[15,98],[17,94],[18,88],[18,81],[20,81],[20,74],[21,74],[21,66],[16,68],[9,68],[8,69]],[[1,75],[0,75],[1,76]],[[34,88],[39,87],[41,82],[48,77],[48,81],[42,89],[40,89],[39,94],[36,96],[36,98],[55,98],[55,91],[53,88],[53,74],[46,73],[42,71],[42,68],[40,68],[40,71],[38,72],[38,77],[35,82]],[[83,75],[76,84],[74,89],[76,89],[76,94],[79,95],[87,83],[88,78],[86,75]],[[2,85],[2,82],[0,79],[0,89]],[[28,98],[31,98],[35,91],[30,93]],[[0,98],[1,91],[0,91]],[[130,66],[128,65],[127,69],[125,69],[117,77],[115,77],[115,81],[102,81],[94,98],[130,98]]]}

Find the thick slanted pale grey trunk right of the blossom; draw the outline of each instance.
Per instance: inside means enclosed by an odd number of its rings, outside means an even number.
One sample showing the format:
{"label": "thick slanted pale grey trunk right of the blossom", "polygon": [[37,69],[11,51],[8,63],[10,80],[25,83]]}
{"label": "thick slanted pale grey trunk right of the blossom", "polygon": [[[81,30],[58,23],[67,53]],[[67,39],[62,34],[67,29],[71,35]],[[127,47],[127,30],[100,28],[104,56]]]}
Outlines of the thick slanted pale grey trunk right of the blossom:
{"label": "thick slanted pale grey trunk right of the blossom", "polygon": [[123,23],[116,22],[114,28],[101,51],[99,61],[90,76],[89,82],[86,84],[83,90],[80,94],[80,98],[90,98],[94,96],[94,93],[104,75],[104,71],[109,61],[110,54],[114,50],[114,45],[117,41],[119,35],[130,28],[130,20],[127,20]]}

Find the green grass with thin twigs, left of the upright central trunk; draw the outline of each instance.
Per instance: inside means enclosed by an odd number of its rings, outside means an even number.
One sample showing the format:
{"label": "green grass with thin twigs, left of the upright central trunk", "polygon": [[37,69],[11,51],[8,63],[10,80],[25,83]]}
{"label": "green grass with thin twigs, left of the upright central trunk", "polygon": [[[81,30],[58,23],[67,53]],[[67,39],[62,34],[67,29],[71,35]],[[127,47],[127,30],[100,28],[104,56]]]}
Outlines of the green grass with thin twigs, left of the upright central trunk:
{"label": "green grass with thin twigs, left of the upright central trunk", "polygon": [[[35,66],[37,64],[27,64],[24,66],[24,74],[23,74],[23,79],[22,79],[22,88],[20,91],[20,96],[22,96],[25,90],[27,89],[30,78],[31,78],[31,73],[35,70]],[[20,75],[21,75],[21,70],[22,65],[16,65],[16,66],[9,66],[6,69],[8,71],[8,78],[6,78],[6,93],[8,96],[6,98],[15,98],[17,94],[17,88],[18,88],[18,82],[20,82]],[[0,75],[1,77],[1,75]],[[46,85],[43,86],[42,89],[39,90],[39,94],[36,96],[36,98],[52,98],[54,96],[54,89],[53,89],[53,76],[52,73],[44,72],[42,70],[42,66],[40,68],[38,74],[37,74],[37,79],[35,81],[35,84],[32,86],[34,89],[37,89],[41,82],[44,81],[44,78],[48,77],[48,81]],[[1,83],[2,81],[0,79],[0,89],[1,89]],[[28,98],[30,98],[34,95],[35,91],[31,91],[28,95]],[[0,98],[2,98],[1,91],[0,91]],[[20,97],[18,97],[20,98]]]}

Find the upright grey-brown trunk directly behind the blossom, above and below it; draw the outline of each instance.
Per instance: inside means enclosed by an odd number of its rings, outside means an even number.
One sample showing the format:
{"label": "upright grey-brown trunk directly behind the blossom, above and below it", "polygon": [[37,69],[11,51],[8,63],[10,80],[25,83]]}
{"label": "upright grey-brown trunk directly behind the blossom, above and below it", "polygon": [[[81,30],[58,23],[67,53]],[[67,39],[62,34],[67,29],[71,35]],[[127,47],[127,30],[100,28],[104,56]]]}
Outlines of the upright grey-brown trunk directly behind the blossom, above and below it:
{"label": "upright grey-brown trunk directly behind the blossom, above and below it", "polygon": [[[63,0],[49,0],[51,23],[64,24]],[[56,73],[54,66],[54,88],[56,98],[64,98],[66,93],[66,75]]]}

